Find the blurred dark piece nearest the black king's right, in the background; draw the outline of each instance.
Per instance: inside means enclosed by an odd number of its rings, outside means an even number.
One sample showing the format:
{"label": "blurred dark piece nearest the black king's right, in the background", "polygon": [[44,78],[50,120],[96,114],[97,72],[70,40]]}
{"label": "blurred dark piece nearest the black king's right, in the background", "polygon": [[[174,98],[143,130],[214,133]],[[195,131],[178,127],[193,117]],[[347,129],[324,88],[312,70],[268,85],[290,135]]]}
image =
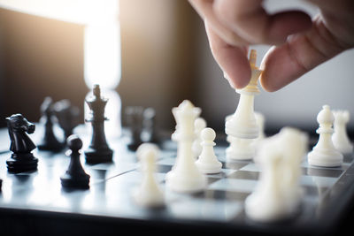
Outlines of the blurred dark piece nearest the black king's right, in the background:
{"label": "blurred dark piece nearest the black king's right, in the background", "polygon": [[142,144],[143,108],[140,106],[130,106],[126,108],[125,113],[131,134],[127,148],[135,151]]}

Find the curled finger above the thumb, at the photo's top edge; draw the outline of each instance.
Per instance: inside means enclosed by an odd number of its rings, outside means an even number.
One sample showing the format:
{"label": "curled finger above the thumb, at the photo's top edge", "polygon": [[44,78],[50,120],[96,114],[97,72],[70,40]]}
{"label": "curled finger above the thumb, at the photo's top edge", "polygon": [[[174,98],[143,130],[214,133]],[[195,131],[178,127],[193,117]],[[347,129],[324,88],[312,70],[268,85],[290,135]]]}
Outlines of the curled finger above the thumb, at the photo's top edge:
{"label": "curled finger above the thumb, at the photo's top edge", "polygon": [[282,11],[268,15],[262,0],[215,1],[218,19],[251,44],[280,44],[290,34],[309,29],[312,19],[303,11]]}

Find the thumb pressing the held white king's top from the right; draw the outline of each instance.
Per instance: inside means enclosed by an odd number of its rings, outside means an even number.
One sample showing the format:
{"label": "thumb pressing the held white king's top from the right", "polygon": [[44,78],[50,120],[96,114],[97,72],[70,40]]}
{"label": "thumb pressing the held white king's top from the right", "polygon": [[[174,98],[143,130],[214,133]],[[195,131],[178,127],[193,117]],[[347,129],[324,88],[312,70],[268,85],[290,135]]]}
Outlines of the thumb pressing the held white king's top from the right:
{"label": "thumb pressing the held white king's top from the right", "polygon": [[317,18],[309,32],[294,35],[267,52],[260,66],[262,87],[269,92],[279,90],[343,50]]}

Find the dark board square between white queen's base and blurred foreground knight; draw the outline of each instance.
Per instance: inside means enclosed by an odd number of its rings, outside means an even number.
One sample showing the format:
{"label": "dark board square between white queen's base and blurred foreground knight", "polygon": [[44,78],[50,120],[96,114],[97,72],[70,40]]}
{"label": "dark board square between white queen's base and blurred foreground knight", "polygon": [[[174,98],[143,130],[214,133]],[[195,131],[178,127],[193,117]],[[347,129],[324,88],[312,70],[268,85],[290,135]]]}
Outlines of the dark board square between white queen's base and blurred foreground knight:
{"label": "dark board square between white queen's base and blurred foreground knight", "polygon": [[193,194],[193,196],[196,198],[223,200],[223,201],[229,200],[229,201],[237,201],[237,202],[244,202],[248,195],[250,195],[250,193],[213,190],[213,189],[207,189],[202,193]]}

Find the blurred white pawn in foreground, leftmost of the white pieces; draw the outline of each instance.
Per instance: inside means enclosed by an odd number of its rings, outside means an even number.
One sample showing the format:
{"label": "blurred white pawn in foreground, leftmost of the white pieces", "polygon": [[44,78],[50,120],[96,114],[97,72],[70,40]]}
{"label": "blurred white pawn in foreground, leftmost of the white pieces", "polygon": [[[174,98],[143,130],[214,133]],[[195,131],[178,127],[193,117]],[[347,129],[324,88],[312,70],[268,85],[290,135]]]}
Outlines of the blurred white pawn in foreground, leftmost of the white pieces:
{"label": "blurred white pawn in foreground, leftmost of the white pieces", "polygon": [[158,183],[154,177],[158,148],[148,143],[143,143],[138,148],[136,155],[142,164],[142,183],[135,190],[135,202],[148,208],[164,206],[164,194],[160,187],[158,187]]}

